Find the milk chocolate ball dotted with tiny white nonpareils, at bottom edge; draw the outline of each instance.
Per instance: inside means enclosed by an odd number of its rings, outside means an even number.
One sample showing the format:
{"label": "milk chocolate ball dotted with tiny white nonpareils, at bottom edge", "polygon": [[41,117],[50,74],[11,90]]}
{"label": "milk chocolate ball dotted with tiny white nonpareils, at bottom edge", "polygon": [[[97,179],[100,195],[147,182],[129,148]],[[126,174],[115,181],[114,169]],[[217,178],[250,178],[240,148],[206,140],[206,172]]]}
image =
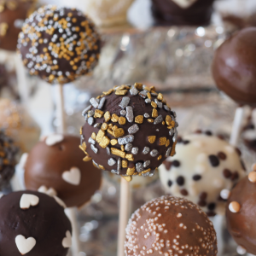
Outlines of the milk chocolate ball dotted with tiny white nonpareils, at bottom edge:
{"label": "milk chocolate ball dotted with tiny white nonpareils, at bottom edge", "polygon": [[125,253],[217,255],[217,238],[207,214],[183,198],[162,196],[134,212],[126,227]]}

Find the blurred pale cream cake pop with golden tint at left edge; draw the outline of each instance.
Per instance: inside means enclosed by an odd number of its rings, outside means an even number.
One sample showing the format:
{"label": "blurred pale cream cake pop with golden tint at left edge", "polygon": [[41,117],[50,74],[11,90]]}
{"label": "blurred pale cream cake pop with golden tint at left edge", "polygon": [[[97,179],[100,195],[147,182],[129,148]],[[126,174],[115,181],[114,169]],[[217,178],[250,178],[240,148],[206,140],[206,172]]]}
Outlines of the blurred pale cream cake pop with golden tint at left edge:
{"label": "blurred pale cream cake pop with golden tint at left edge", "polygon": [[20,153],[29,152],[38,142],[41,132],[26,109],[9,99],[0,99],[0,129],[15,140]]}

